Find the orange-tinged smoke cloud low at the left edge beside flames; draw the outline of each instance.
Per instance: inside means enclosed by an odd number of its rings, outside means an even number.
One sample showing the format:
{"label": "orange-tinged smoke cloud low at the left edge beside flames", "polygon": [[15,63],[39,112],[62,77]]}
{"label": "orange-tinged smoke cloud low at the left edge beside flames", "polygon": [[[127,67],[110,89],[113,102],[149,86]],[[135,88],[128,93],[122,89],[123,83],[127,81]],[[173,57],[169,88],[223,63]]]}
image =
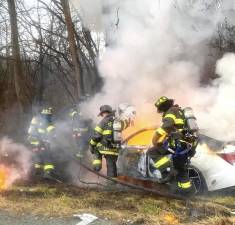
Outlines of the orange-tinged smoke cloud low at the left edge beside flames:
{"label": "orange-tinged smoke cloud low at the left edge beside flames", "polygon": [[4,187],[9,187],[18,180],[26,180],[31,170],[31,162],[32,153],[24,145],[15,143],[7,137],[0,140],[1,170],[6,169]]}

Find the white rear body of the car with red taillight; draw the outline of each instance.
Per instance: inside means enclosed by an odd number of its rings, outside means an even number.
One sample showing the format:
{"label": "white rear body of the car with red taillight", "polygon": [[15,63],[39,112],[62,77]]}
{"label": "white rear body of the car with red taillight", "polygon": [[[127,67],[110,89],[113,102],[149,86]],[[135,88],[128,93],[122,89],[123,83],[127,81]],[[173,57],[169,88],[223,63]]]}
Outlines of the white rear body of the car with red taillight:
{"label": "white rear body of the car with red taillight", "polygon": [[201,190],[235,187],[235,143],[200,135],[196,151],[191,159],[190,176],[198,180]]}

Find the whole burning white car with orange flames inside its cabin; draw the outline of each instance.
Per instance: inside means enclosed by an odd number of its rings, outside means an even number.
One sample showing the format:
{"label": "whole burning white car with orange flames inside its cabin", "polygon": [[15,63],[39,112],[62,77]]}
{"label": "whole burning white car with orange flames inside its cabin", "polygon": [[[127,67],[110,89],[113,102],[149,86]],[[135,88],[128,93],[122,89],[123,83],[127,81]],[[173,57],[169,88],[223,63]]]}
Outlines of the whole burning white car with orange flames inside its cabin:
{"label": "whole burning white car with orange flames inside its cabin", "polygon": [[[120,176],[154,180],[151,159],[147,154],[154,130],[142,129],[124,140],[125,147],[118,160]],[[201,134],[196,155],[189,165],[189,176],[198,193],[235,187],[235,143]]]}

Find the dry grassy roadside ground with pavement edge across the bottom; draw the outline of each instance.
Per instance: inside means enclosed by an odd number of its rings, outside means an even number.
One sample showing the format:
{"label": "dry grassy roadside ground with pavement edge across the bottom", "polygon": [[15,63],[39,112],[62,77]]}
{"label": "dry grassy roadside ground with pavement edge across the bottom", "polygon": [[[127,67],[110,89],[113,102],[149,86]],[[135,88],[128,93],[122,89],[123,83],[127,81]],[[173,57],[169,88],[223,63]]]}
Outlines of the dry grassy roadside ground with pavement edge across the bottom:
{"label": "dry grassy roadside ground with pavement edge across the bottom", "polygon": [[[186,202],[135,190],[105,191],[38,183],[21,184],[2,191],[0,205],[0,224],[12,225],[20,221],[27,224],[25,220],[35,225],[44,224],[42,221],[46,221],[45,224],[77,224],[73,215],[81,213],[100,218],[92,224],[235,224],[231,214],[235,211],[235,195],[232,194],[197,197]],[[14,223],[14,218],[18,223]]]}

